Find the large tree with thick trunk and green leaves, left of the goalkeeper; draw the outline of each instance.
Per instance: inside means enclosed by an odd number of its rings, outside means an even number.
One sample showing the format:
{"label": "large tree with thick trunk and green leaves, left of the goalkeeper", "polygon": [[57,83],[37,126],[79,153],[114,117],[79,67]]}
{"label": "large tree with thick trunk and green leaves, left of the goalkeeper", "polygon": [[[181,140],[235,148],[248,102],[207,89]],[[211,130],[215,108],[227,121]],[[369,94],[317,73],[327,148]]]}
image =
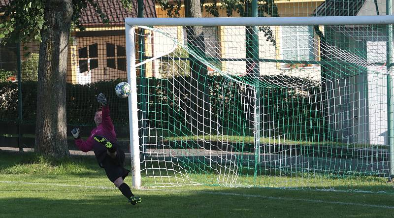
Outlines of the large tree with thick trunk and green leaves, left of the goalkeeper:
{"label": "large tree with thick trunk and green leaves, left of the goalkeeper", "polygon": [[1,41],[40,42],[37,78],[35,145],[37,153],[68,156],[66,71],[71,24],[90,3],[103,23],[108,19],[95,0],[10,0],[0,8]]}

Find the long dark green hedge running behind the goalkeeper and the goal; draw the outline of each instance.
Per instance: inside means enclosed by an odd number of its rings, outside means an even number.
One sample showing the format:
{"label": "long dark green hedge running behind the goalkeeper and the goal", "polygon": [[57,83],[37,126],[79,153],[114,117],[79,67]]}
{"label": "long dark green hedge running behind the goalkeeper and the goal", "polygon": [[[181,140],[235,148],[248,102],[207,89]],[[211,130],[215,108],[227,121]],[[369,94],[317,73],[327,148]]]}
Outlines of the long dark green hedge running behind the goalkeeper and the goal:
{"label": "long dark green hedge running behind the goalkeeper and the goal", "polygon": [[[262,80],[286,82],[301,88],[262,88],[261,91],[261,125],[264,136],[277,137],[284,134],[286,139],[317,141],[324,135],[324,115],[319,104],[321,99],[320,85],[308,79],[295,79],[284,76],[263,76]],[[190,77],[174,77],[165,79],[137,79],[138,102],[144,98],[146,119],[149,127],[156,127],[167,135],[188,134],[188,123],[193,118],[189,113],[191,105]],[[114,89],[122,80],[98,82],[88,85],[67,84],[67,123],[68,125],[94,125],[93,116],[100,107],[96,95],[100,92],[107,96],[111,109],[111,118],[115,125],[128,125],[128,101],[118,98]],[[142,82],[145,84],[144,95],[141,95]],[[209,87],[206,99],[209,99],[212,131],[221,129],[227,134],[253,135],[253,102],[249,97],[252,90],[246,86],[222,76],[205,78]],[[295,86],[296,87],[296,86]],[[50,93],[47,93],[50,94]],[[201,92],[200,92],[201,94]],[[23,121],[35,122],[36,82],[22,83]],[[201,97],[202,95],[199,95]],[[17,119],[17,83],[0,83],[0,121]],[[316,104],[317,103],[317,104]],[[139,109],[142,108],[139,103]],[[201,105],[199,105],[201,106]],[[139,113],[139,116],[141,113]],[[219,124],[219,125],[215,125]],[[268,130],[271,129],[271,130]],[[275,130],[274,130],[275,129]],[[159,133],[160,134],[160,133]]]}

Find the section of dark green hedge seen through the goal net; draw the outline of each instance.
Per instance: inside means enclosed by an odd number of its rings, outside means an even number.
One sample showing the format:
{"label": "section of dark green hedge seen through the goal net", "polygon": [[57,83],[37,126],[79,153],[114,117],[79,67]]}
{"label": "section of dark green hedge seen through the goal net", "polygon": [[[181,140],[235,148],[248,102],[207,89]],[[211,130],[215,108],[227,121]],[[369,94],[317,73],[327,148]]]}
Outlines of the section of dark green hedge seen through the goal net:
{"label": "section of dark green hedge seen through the goal net", "polygon": [[[293,86],[260,89],[262,136],[324,140],[325,120],[320,104],[322,91],[317,81],[282,75],[262,76],[261,81]],[[253,90],[222,76],[209,76],[204,82],[209,87],[211,128],[203,131],[219,130],[229,135],[253,136],[253,102],[250,101]],[[188,135],[191,129],[188,123],[192,119],[185,111],[190,111],[192,103],[190,77],[150,78],[145,83],[148,87],[144,97],[149,111],[149,126],[168,131],[155,134]]]}

